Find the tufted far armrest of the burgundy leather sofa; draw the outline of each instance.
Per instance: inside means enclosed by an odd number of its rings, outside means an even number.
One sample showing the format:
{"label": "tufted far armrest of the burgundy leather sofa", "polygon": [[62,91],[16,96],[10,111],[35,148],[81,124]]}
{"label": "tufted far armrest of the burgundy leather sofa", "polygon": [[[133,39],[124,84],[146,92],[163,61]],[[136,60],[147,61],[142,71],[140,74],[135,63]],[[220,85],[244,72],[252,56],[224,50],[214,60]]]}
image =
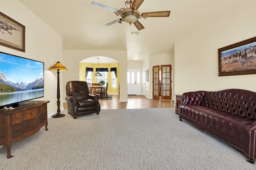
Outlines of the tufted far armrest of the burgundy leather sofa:
{"label": "tufted far armrest of the burgundy leather sofa", "polygon": [[186,92],[183,96],[182,104],[189,105],[200,105],[202,103],[202,98],[204,97],[206,91],[197,91],[197,92]]}

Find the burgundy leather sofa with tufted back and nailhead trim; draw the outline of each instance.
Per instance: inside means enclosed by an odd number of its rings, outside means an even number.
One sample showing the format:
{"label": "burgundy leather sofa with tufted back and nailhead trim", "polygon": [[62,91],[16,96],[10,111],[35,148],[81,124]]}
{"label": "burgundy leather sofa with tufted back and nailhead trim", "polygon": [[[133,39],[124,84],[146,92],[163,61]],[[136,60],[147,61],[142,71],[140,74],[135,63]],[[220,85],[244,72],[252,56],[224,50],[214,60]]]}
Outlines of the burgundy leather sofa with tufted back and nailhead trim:
{"label": "burgundy leather sofa with tufted back and nailhead trim", "polygon": [[180,121],[185,119],[256,159],[256,92],[227,89],[183,94]]}

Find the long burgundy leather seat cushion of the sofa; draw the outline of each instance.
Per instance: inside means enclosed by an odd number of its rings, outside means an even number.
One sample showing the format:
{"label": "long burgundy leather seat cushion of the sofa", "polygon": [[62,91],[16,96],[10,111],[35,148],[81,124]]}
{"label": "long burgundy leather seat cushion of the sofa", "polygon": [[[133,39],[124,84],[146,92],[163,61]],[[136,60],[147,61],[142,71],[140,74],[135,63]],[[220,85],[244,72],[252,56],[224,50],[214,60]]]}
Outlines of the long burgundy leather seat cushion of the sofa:
{"label": "long burgundy leather seat cushion of the sofa", "polygon": [[182,105],[183,114],[201,124],[249,145],[254,120],[198,105]]}

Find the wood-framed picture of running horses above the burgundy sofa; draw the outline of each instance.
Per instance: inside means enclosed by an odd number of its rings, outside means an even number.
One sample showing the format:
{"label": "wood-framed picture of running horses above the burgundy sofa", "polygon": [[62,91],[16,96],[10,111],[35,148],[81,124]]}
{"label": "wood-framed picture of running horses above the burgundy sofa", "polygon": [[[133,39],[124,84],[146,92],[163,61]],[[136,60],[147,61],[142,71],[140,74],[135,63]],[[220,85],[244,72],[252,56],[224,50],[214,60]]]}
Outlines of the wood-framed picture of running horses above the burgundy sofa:
{"label": "wood-framed picture of running horses above the burgundy sofa", "polygon": [[256,74],[256,37],[218,49],[218,76]]}

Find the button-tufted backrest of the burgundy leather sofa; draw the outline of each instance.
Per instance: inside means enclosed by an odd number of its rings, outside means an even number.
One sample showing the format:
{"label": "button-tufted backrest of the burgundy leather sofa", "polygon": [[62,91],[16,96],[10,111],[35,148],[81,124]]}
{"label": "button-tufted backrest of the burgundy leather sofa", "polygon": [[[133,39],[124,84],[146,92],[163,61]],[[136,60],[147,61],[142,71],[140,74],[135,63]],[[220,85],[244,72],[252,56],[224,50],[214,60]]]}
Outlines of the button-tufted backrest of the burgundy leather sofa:
{"label": "button-tufted backrest of the burgundy leather sofa", "polygon": [[256,92],[242,89],[205,92],[200,105],[256,120]]}

